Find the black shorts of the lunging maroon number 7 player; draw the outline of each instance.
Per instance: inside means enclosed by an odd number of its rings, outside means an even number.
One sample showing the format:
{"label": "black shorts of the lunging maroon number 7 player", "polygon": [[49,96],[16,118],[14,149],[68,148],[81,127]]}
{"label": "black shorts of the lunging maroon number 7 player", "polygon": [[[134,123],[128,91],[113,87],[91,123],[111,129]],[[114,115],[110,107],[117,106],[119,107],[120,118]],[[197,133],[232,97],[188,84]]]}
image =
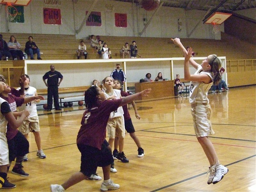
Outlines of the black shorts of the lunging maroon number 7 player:
{"label": "black shorts of the lunging maroon number 7 player", "polygon": [[111,150],[108,149],[108,145],[107,140],[104,140],[99,150],[89,145],[77,144],[81,152],[80,172],[90,177],[96,173],[97,167],[105,167],[112,164],[114,159]]}

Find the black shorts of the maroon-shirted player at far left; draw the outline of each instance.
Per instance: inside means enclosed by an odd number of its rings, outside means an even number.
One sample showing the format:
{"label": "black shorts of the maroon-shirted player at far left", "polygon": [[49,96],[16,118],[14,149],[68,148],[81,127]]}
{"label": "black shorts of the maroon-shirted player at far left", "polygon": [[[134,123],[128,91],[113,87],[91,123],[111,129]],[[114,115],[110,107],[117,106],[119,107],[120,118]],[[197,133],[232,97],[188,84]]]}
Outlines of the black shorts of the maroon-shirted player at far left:
{"label": "black shorts of the maroon-shirted player at far left", "polygon": [[29,142],[18,132],[15,137],[7,141],[9,148],[9,161],[14,161],[16,157],[23,157],[29,153]]}

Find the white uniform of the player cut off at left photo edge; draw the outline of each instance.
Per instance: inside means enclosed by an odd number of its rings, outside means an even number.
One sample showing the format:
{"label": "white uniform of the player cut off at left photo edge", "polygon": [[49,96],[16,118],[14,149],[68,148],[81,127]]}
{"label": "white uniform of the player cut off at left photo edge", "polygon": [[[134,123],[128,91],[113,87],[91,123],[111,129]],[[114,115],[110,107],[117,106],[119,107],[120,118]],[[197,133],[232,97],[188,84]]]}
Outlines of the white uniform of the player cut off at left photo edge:
{"label": "white uniform of the player cut off at left photo edge", "polygon": [[[3,102],[7,101],[0,97],[0,108]],[[6,138],[7,123],[8,121],[0,112],[0,166],[9,164],[9,150]]]}

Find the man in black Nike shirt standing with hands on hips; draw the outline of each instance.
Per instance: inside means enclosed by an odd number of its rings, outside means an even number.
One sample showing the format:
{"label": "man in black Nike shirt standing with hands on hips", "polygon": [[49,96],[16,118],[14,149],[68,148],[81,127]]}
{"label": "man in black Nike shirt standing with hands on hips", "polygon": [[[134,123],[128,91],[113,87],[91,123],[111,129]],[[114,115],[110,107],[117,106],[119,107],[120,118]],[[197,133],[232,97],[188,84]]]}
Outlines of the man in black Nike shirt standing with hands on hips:
{"label": "man in black Nike shirt standing with hands on hips", "polygon": [[[55,71],[54,65],[51,65],[51,71],[48,71],[43,76],[43,81],[47,89],[47,111],[52,110],[52,96],[54,100],[54,107],[55,110],[61,110],[60,104],[59,104],[59,86],[61,81],[63,80],[63,76],[59,71]],[[60,82],[59,82],[60,78]],[[47,79],[47,83],[45,81]]]}

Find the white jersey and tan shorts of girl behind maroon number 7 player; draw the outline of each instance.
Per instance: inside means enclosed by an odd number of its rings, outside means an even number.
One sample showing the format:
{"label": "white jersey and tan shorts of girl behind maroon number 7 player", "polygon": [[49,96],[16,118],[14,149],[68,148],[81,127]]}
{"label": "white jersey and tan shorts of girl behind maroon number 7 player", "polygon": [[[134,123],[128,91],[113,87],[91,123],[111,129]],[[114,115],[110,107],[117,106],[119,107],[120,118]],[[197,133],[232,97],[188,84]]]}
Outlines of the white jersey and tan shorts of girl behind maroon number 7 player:
{"label": "white jersey and tan shorts of girl behind maroon number 7 player", "polygon": [[[113,89],[113,95],[116,96],[116,99],[120,99],[121,91]],[[106,98],[109,98],[112,95],[108,95],[104,92]],[[110,113],[108,124],[107,124],[108,136],[110,139],[115,139],[116,136],[124,138],[125,136],[125,127],[124,127],[124,110],[123,107],[117,108],[116,111]]]}

